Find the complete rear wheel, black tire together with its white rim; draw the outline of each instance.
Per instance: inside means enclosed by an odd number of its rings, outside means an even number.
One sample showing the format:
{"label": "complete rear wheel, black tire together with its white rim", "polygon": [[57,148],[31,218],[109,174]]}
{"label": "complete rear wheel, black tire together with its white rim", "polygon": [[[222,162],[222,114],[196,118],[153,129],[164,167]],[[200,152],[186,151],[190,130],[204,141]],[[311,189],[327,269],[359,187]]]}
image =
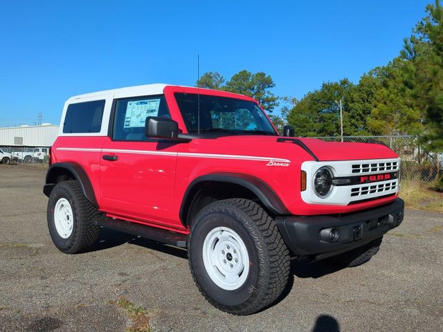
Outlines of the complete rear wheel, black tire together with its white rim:
{"label": "complete rear wheel, black tire together with its white rim", "polygon": [[100,212],[84,196],[78,181],[55,185],[48,200],[48,229],[55,246],[66,254],[85,252],[98,239],[94,219]]}

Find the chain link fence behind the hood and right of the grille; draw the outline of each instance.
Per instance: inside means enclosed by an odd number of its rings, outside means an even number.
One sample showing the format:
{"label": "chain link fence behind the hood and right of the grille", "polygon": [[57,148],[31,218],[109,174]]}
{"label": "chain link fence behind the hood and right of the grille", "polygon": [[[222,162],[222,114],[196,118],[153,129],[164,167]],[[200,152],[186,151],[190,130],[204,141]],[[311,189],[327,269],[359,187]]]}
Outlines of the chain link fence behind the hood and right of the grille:
{"label": "chain link fence behind the hood and right of the grille", "polygon": [[[341,142],[341,137],[316,137]],[[344,136],[343,142],[378,143],[390,147],[401,158],[401,178],[429,185],[443,176],[443,154],[423,151],[415,136]]]}

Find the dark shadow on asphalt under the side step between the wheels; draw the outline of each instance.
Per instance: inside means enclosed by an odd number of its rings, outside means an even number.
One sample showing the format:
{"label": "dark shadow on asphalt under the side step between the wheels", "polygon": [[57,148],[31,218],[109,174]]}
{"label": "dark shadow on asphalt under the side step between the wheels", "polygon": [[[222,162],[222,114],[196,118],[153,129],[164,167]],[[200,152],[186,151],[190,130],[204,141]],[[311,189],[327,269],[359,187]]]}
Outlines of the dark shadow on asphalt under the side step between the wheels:
{"label": "dark shadow on asphalt under the side step between the wheels", "polygon": [[91,248],[90,251],[98,251],[98,250],[114,248],[117,246],[121,246],[124,243],[130,243],[147,249],[164,252],[165,254],[168,255],[173,255],[183,259],[188,259],[188,252],[184,249],[168,246],[163,243],[159,243],[148,239],[143,239],[141,237],[136,237],[131,234],[118,232],[116,230],[110,230],[108,228],[102,228],[100,230],[100,237],[98,238],[96,245],[93,246],[93,248]]}

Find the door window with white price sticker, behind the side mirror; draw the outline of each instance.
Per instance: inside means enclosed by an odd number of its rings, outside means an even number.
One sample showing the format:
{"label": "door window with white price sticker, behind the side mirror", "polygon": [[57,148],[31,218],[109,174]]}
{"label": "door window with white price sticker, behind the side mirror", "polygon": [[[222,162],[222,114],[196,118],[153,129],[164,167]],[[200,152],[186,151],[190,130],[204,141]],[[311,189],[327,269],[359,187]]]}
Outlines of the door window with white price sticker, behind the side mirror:
{"label": "door window with white price sticker, behind the side mirror", "polygon": [[145,121],[148,116],[170,118],[163,95],[116,100],[113,140],[147,140]]}

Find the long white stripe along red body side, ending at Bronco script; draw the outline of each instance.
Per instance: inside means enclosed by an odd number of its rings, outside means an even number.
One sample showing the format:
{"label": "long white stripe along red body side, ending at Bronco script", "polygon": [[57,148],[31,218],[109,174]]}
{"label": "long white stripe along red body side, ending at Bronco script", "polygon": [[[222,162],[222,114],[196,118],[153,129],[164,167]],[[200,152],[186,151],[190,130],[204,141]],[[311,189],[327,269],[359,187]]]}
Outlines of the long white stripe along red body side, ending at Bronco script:
{"label": "long white stripe along red body side, ending at Bronco script", "polygon": [[242,156],[239,154],[197,154],[193,152],[168,152],[168,151],[149,151],[149,150],[129,150],[129,149],[89,149],[83,147],[57,147],[60,151],[82,151],[82,152],[114,152],[121,154],[149,154],[157,156],[178,156],[188,158],[215,158],[215,159],[234,159],[234,160],[253,160],[253,161],[274,161],[277,163],[291,163],[289,159],[260,157],[260,156]]}

